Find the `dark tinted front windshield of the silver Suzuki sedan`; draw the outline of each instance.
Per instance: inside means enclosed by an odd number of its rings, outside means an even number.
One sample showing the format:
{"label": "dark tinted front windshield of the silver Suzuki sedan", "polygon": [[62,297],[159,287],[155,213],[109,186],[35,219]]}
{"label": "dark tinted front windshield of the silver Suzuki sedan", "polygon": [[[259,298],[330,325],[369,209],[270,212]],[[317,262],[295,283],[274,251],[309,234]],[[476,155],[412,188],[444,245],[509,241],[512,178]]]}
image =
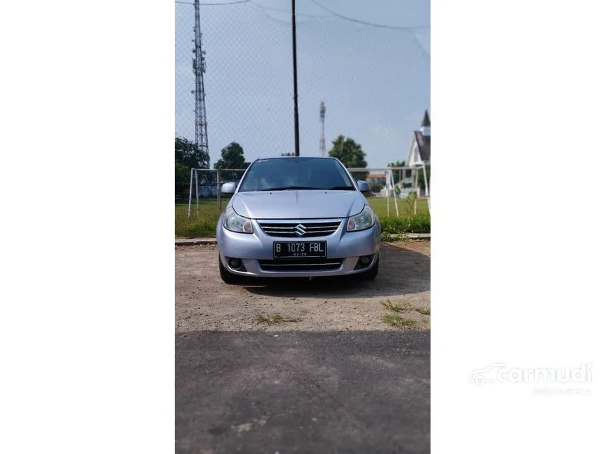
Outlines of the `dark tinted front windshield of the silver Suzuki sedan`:
{"label": "dark tinted front windshield of the silver Suzuki sedan", "polygon": [[324,189],[354,191],[350,177],[334,159],[277,158],[257,160],[246,173],[240,192]]}

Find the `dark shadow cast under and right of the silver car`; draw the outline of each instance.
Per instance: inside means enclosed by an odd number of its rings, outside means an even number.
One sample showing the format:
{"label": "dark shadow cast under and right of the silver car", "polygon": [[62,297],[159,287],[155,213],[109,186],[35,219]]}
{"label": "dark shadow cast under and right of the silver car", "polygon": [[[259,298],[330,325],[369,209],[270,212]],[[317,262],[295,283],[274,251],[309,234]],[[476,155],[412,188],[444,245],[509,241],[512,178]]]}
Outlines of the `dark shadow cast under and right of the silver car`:
{"label": "dark shadow cast under and right of the silver car", "polygon": [[381,245],[381,265],[376,279],[350,277],[258,279],[247,283],[251,294],[292,298],[360,298],[399,296],[430,289],[431,259],[409,248]]}

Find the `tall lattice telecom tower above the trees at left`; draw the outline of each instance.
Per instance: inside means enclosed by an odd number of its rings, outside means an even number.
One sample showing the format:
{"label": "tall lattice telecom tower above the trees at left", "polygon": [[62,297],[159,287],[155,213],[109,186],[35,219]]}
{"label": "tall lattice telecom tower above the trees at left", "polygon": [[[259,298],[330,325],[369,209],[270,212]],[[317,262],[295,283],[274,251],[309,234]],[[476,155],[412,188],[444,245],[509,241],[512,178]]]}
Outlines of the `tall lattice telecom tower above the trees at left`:
{"label": "tall lattice telecom tower above the trees at left", "polygon": [[203,153],[209,152],[209,134],[206,130],[206,101],[204,94],[204,72],[206,72],[206,61],[204,54],[206,51],[202,50],[202,30],[200,29],[200,0],[194,0],[194,11],[195,11],[195,27],[194,27],[194,49],[193,53],[194,61],[194,75],[196,79],[196,89],[194,92],[196,96],[196,144]]}

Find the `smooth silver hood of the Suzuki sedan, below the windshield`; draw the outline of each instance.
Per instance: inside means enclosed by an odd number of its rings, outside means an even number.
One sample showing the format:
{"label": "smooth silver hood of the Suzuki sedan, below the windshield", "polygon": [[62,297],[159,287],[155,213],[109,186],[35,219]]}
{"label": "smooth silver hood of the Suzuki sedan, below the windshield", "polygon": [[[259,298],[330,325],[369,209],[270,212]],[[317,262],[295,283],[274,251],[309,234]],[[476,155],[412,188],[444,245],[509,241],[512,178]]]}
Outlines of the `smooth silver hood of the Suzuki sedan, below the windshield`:
{"label": "smooth silver hood of the Suzuki sedan, below the windshield", "polygon": [[364,208],[358,191],[239,192],[232,198],[236,213],[253,219],[320,219],[357,215]]}

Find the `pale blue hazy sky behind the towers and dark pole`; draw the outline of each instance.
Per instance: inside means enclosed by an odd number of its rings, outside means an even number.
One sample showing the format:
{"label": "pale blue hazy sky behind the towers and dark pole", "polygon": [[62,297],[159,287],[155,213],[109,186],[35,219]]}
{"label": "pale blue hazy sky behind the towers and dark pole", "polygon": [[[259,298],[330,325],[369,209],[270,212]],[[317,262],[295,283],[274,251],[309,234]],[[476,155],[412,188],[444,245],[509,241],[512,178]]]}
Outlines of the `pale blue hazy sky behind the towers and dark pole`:
{"label": "pale blue hazy sky behind the towers and dark pole", "polygon": [[[404,159],[430,103],[429,1],[317,1],[350,18],[427,28],[360,25],[335,18],[311,0],[297,0],[302,156],[319,153],[323,100],[327,150],[344,134],[361,144],[369,166]],[[200,10],[211,165],[230,141],[242,145],[247,160],[294,151],[290,0]],[[193,6],[175,4],[175,132],[189,139],[194,138],[193,24]]]}

